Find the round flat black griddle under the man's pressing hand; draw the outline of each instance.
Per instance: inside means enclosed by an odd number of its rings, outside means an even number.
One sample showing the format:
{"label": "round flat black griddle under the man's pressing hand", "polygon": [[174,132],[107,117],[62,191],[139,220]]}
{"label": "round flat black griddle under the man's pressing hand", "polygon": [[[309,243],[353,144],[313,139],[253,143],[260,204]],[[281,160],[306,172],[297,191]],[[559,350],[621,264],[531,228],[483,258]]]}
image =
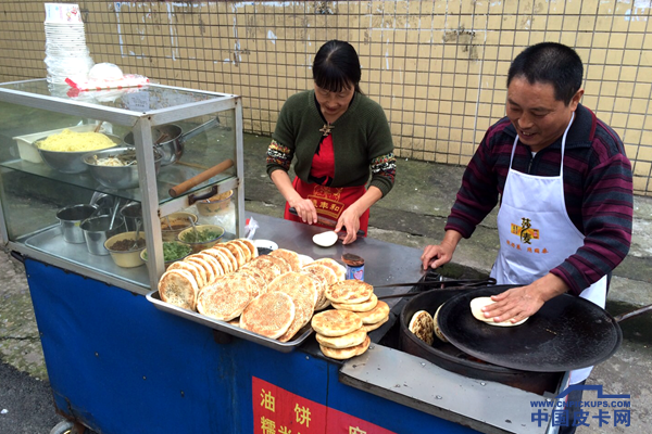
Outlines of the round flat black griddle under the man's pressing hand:
{"label": "round flat black griddle under the man's pressing hand", "polygon": [[[473,289],[449,299],[439,312],[442,334],[478,359],[512,369],[559,372],[597,365],[620,346],[623,333],[604,309],[562,294],[516,327],[496,327],[471,314],[475,297],[500,294],[510,285]],[[642,310],[642,309],[641,309]]]}

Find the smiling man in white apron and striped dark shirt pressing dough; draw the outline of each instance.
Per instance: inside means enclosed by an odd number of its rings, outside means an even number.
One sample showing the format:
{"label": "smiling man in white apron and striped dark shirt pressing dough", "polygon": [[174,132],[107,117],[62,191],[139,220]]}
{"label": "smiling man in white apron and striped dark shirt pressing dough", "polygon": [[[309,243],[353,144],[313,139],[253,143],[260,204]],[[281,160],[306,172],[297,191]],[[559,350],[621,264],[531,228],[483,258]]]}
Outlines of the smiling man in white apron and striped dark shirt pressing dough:
{"label": "smiling man in white apron and striped dark shirt pressing dough", "polygon": [[[604,307],[609,276],[629,251],[631,165],[618,136],[579,103],[581,81],[581,60],[563,44],[516,56],[507,116],[489,128],[466,168],[443,240],[422,255],[424,268],[450,261],[500,195],[491,276],[523,286],[492,297],[485,316],[497,322],[517,322],[565,292]],[[569,383],[584,383],[590,371],[572,371]],[[575,411],[560,433],[575,432]]]}

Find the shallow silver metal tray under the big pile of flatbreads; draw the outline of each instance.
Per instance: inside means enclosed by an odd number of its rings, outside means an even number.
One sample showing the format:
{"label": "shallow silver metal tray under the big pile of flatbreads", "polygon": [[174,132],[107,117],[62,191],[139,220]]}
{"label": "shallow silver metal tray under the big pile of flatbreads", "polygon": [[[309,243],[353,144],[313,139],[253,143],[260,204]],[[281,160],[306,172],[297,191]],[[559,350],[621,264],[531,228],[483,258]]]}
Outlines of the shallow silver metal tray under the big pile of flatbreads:
{"label": "shallow silver metal tray under the big pile of flatbreads", "polygon": [[198,314],[196,311],[191,311],[188,309],[183,309],[175,305],[171,305],[170,303],[165,303],[161,299],[159,295],[159,291],[152,291],[146,295],[147,299],[153,303],[154,307],[159,310],[166,311],[172,315],[176,315],[177,317],[186,318],[190,321],[197,322],[199,324],[210,327],[213,330],[218,330],[224,333],[230,334],[236,337],[241,337],[247,341],[254,342],[256,344],[266,346],[272,349],[276,349],[281,353],[290,353],[296,347],[301,345],[303,341],[308,339],[313,332],[312,327],[310,324],[304,326],[301,330],[297,332],[294,337],[292,337],[288,342],[279,342],[269,337],[261,336],[260,334],[250,332],[248,330],[240,329],[239,327],[235,327],[229,324],[226,321],[220,321],[216,319],[209,318],[204,315]]}

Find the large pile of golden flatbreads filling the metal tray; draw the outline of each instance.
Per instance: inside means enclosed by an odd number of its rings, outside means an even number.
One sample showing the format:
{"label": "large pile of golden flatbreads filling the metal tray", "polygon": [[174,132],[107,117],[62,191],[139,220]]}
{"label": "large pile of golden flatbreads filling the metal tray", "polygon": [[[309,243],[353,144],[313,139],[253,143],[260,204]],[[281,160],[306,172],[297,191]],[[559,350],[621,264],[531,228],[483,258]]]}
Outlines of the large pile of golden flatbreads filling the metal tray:
{"label": "large pile of golden flatbreads filling the metal tray", "polygon": [[249,244],[233,240],[174,263],[159,281],[161,299],[288,342],[330,305],[326,290],[346,269],[285,248],[259,256]]}

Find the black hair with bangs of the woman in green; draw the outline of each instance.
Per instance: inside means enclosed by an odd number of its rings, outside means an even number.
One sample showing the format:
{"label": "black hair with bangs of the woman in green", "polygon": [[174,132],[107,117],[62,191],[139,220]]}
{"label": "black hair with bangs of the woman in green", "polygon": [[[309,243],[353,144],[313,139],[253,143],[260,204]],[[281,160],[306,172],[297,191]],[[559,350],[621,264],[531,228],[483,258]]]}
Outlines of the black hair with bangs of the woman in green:
{"label": "black hair with bangs of the woman in green", "polygon": [[360,92],[361,75],[360,59],[349,42],[330,40],[315,54],[313,79],[322,89],[341,92],[353,86]]}

